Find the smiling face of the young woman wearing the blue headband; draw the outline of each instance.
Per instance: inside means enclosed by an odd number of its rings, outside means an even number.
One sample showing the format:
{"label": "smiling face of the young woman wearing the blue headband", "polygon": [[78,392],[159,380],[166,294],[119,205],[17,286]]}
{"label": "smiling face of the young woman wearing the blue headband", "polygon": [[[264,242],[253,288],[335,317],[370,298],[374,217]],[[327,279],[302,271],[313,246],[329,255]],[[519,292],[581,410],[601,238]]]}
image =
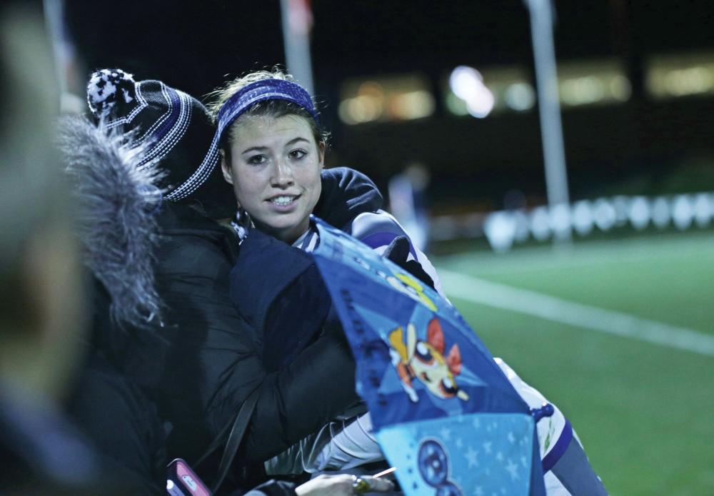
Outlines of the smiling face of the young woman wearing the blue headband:
{"label": "smiling face of the young woman wearing the blue headband", "polygon": [[241,116],[231,127],[223,177],[256,228],[293,243],[308,230],[320,198],[324,146],[301,116]]}

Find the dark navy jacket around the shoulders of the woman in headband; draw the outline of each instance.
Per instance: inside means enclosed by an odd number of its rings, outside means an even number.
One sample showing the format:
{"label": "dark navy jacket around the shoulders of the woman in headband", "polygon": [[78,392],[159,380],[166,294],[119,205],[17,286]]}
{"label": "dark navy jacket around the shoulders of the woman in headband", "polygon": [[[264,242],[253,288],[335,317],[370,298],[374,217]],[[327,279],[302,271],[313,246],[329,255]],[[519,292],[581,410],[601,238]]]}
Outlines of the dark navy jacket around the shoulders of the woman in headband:
{"label": "dark navy jacket around the shoulders of the woman in headband", "polygon": [[[323,192],[313,213],[337,228],[350,225],[360,213],[381,208],[381,194],[362,173],[332,168],[323,171],[322,180]],[[267,370],[283,368],[313,343],[331,308],[311,255],[255,229],[241,245],[230,291],[238,312],[260,330],[258,350]]]}

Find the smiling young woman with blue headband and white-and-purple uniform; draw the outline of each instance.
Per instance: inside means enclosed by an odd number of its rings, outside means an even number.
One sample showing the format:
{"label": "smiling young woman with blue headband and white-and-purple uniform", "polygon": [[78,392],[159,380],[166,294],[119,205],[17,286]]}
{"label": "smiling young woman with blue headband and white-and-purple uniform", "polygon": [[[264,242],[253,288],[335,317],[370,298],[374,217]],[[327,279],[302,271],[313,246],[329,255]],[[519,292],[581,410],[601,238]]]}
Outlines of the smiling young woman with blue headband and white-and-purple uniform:
{"label": "smiling young woman with blue headband and white-and-purple uniform", "polygon": [[[250,246],[253,239],[263,240],[260,233],[264,233],[303,250],[312,250],[318,235],[311,226],[310,216],[316,213],[328,217],[330,208],[318,204],[327,143],[311,96],[292,81],[291,76],[281,71],[248,74],[214,95],[216,103],[212,109],[222,152],[221,168],[223,177],[233,186],[238,203],[234,225],[246,240],[243,246]],[[362,212],[344,221],[337,227],[376,250],[385,250],[396,238],[406,236],[396,220],[384,211]],[[245,236],[246,233],[248,236]],[[258,246],[265,243],[256,241]],[[423,280],[433,281],[436,290],[443,295],[433,265],[411,243],[408,261],[413,264],[413,272],[417,270],[414,265],[418,263],[423,269]],[[231,279],[246,280],[246,273],[251,271],[255,272],[255,268],[246,268],[238,260]],[[238,288],[237,283],[235,287]],[[231,296],[238,309],[246,312],[256,303],[240,290],[232,291]],[[276,334],[269,321],[261,323],[261,328],[266,340]],[[283,336],[272,342],[287,342],[289,346],[284,346],[282,350],[279,346],[265,349],[271,350],[275,360],[274,355],[289,356],[310,339],[309,335],[301,340]],[[497,361],[523,399],[532,408],[540,407],[545,398],[523,383],[502,360]],[[370,461],[378,452],[369,432],[370,425],[366,414],[338,435],[327,432],[319,443],[297,447],[293,456],[301,459],[297,463],[298,468],[315,470],[327,467],[336,458],[343,464],[342,467]],[[571,442],[573,430],[560,410],[556,408],[555,415],[538,422],[538,437],[549,494],[567,494],[566,487],[570,492],[604,493],[577,438]],[[357,442],[351,442],[353,440]],[[363,450],[359,449],[359,445],[363,446]],[[281,463],[276,462],[276,465]]]}

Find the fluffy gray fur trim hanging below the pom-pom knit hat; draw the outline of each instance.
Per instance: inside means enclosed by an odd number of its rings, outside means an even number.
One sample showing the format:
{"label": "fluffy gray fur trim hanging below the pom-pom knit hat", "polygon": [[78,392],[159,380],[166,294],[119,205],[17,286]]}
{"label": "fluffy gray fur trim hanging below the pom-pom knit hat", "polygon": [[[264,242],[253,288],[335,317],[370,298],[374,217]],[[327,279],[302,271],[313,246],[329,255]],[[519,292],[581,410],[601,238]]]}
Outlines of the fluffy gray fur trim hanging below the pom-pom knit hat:
{"label": "fluffy gray fur trim hanging below the pom-pom knit hat", "polygon": [[131,148],[131,134],[77,116],[61,119],[59,141],[79,201],[84,262],[111,296],[111,318],[137,327],[160,322],[154,280],[162,193],[155,184],[163,175],[158,163],[137,167],[146,145]]}

